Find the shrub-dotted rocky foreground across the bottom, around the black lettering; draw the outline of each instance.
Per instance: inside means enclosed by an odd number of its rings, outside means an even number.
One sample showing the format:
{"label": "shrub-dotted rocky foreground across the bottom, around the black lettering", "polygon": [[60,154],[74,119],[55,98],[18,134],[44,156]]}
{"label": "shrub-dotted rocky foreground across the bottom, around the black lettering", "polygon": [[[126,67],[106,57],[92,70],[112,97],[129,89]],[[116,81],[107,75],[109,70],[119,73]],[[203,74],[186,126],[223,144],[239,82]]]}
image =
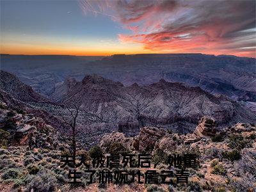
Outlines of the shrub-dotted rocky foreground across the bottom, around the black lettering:
{"label": "shrub-dotted rocky foreground across the bottom, around the black lettering", "polygon": [[[122,132],[105,134],[99,145],[88,151],[86,163],[95,154],[129,152],[151,154],[156,169],[168,170],[166,157],[173,154],[196,154],[196,168],[188,168],[188,184],[68,184],[68,167],[61,168],[60,156],[68,146],[60,134],[44,120],[11,109],[1,102],[1,191],[255,191],[256,127],[237,123],[221,132],[216,122],[204,116],[195,131],[178,134],[156,127],[143,127],[137,136]],[[24,129],[26,128],[26,129]],[[28,129],[29,128],[29,129]],[[20,136],[20,129],[22,136]],[[92,165],[91,167],[92,168]],[[173,168],[170,168],[171,170]],[[127,168],[131,171],[131,168]],[[98,175],[99,176],[99,175]],[[173,179],[175,182],[175,178]]]}

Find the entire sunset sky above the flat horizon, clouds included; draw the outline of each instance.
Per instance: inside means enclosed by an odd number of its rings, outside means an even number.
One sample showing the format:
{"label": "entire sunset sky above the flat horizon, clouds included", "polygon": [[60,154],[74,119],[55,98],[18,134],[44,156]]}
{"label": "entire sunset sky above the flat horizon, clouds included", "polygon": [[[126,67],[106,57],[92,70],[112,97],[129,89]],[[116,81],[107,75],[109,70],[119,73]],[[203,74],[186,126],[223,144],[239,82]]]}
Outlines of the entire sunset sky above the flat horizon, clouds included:
{"label": "entire sunset sky above the flat horizon, clouds included", "polygon": [[0,52],[256,58],[256,1],[0,0]]}

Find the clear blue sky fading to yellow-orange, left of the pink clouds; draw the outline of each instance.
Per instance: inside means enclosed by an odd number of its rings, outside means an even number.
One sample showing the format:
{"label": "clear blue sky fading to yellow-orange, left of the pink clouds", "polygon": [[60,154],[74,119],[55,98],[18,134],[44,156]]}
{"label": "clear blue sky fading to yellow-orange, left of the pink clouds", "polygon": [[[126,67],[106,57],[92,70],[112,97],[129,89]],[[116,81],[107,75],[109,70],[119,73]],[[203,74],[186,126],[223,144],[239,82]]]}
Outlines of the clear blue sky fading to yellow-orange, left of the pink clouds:
{"label": "clear blue sky fading to yellow-orange, left of the pink clouds", "polygon": [[131,32],[106,15],[84,14],[77,1],[1,1],[6,53],[106,54],[109,46],[126,49],[119,33]]}

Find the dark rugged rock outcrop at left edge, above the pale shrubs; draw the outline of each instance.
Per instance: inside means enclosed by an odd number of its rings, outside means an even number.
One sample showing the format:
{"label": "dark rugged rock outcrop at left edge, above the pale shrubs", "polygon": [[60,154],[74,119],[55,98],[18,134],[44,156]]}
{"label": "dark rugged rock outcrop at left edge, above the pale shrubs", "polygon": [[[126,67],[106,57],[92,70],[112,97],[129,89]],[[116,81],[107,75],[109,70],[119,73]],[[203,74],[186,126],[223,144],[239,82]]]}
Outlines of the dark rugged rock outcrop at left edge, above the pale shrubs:
{"label": "dark rugged rock outcrop at left edge, above the pale shrubs", "polygon": [[16,109],[17,112],[4,102],[1,102],[1,106],[0,129],[10,133],[9,143],[15,146],[28,145],[31,149],[56,149],[59,146],[58,131],[42,118],[27,114],[22,109]]}

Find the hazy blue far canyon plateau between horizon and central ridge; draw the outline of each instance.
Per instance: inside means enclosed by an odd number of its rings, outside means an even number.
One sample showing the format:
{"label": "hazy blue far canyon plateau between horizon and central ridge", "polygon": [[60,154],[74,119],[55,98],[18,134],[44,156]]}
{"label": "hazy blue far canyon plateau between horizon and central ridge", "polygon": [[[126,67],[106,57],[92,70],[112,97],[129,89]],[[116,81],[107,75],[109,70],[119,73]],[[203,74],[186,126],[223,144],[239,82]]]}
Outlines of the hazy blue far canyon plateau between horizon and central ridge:
{"label": "hazy blue far canyon plateau between horizon and central ridge", "polygon": [[113,56],[2,55],[1,69],[49,97],[55,86],[73,77],[99,74],[125,86],[159,79],[199,86],[209,93],[256,102],[254,58],[209,54],[115,54]]}

